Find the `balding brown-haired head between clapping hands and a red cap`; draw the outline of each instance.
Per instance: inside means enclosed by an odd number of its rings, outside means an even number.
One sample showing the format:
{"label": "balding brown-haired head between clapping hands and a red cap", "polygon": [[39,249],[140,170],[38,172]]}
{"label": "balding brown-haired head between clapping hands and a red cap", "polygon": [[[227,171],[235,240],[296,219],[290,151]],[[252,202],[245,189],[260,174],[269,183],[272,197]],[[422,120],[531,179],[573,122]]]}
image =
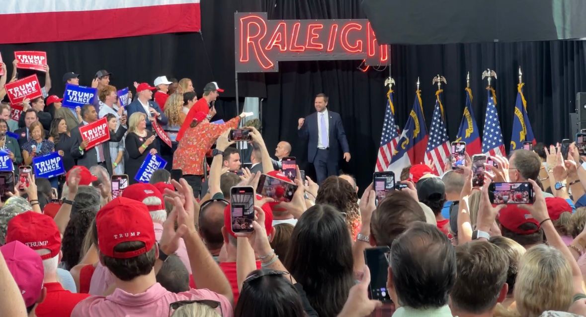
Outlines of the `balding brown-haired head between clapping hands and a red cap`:
{"label": "balding brown-haired head between clapping hands and a red cap", "polygon": [[224,243],[222,236],[224,207],[226,204],[223,202],[212,202],[199,213],[199,233],[205,240],[208,249],[220,249]]}

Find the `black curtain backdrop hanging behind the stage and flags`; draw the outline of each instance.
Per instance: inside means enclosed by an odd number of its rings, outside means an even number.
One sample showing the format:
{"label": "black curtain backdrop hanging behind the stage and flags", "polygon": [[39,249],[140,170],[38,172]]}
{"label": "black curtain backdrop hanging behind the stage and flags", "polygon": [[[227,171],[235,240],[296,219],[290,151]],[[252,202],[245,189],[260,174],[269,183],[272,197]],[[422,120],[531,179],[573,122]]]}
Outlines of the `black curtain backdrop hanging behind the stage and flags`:
{"label": "black curtain backdrop hanging behind the stage and flags", "polygon": [[[246,2],[246,3],[242,3]],[[81,84],[89,85],[97,70],[114,73],[111,84],[132,87],[133,81],[151,82],[159,75],[189,77],[198,94],[209,81],[226,89],[216,102],[219,117],[236,115],[234,76],[234,12],[268,12],[269,19],[348,19],[366,18],[360,0],[202,0],[202,33],[180,33],[79,42],[4,45],[0,52],[8,64],[14,50],[47,51],[53,89],[61,95],[66,71],[80,73]],[[400,32],[397,30],[396,32]],[[432,78],[441,74],[448,133],[455,139],[465,104],[466,72],[471,74],[473,106],[479,129],[483,128],[486,81],[482,71],[498,74],[496,88],[505,146],[509,148],[513,107],[516,98],[517,68],[523,69],[527,110],[538,140],[553,143],[568,132],[568,113],[574,112],[576,92],[586,91],[586,41],[525,43],[449,44],[391,46],[391,74],[397,85],[395,106],[397,124],[403,128],[414,100],[415,82],[420,77],[425,118],[429,125],[435,90]],[[352,160],[340,167],[355,174],[361,188],[372,178],[386,105],[384,78],[389,68],[366,72],[361,61],[282,62],[279,73],[239,74],[240,103],[243,97],[264,98],[263,135],[268,148],[280,140],[293,144],[308,175],[314,172],[306,163],[306,144],[297,137],[297,119],[314,112],[314,96],[330,97],[329,109],[339,112],[350,143]],[[19,77],[26,71],[19,72]],[[41,79],[42,81],[42,79]],[[271,153],[272,154],[272,153]],[[340,158],[341,159],[341,158]]]}

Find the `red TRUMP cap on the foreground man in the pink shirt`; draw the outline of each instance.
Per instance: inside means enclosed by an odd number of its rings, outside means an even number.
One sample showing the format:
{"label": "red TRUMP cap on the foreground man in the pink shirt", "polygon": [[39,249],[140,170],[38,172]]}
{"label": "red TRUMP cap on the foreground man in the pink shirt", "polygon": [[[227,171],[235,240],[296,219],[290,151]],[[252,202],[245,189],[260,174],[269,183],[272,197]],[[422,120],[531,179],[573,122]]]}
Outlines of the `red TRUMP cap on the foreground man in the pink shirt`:
{"label": "red TRUMP cap on the foreground man in the pink shirt", "polygon": [[[155,245],[155,229],[148,208],[133,199],[118,197],[108,202],[96,215],[96,228],[100,252],[115,259],[139,256]],[[145,246],[134,251],[114,251],[118,244],[131,241],[143,242]]]}

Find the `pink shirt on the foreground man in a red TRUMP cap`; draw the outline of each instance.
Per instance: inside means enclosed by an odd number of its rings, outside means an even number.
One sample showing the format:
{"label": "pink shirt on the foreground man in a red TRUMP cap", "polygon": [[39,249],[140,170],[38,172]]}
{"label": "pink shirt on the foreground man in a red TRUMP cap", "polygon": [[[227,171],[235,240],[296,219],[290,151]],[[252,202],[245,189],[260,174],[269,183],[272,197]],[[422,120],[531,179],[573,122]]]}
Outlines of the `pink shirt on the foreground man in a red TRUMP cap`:
{"label": "pink shirt on the foreground man in a red TRUMP cap", "polygon": [[224,295],[210,290],[194,290],[175,294],[165,290],[161,284],[152,285],[147,291],[140,294],[130,294],[119,288],[110,296],[91,296],[79,302],[73,308],[71,317],[101,317],[101,316],[169,316],[169,304],[177,301],[193,301],[210,299],[220,302],[216,310],[223,313],[223,317],[233,317],[230,301]]}

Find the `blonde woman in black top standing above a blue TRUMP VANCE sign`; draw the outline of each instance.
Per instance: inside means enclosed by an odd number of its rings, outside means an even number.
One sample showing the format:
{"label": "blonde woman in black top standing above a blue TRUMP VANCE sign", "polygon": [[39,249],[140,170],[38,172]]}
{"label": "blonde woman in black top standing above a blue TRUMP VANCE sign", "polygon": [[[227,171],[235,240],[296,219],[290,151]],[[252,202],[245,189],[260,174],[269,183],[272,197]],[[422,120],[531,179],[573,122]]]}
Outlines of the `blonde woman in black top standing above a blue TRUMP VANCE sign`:
{"label": "blonde woman in black top standing above a blue TRUMP VANCE sign", "polygon": [[155,135],[147,130],[147,115],[142,112],[132,113],[128,120],[128,135],[126,136],[126,151],[128,160],[125,162],[125,172],[134,184],[134,177],[147,157],[148,153],[156,154]]}

